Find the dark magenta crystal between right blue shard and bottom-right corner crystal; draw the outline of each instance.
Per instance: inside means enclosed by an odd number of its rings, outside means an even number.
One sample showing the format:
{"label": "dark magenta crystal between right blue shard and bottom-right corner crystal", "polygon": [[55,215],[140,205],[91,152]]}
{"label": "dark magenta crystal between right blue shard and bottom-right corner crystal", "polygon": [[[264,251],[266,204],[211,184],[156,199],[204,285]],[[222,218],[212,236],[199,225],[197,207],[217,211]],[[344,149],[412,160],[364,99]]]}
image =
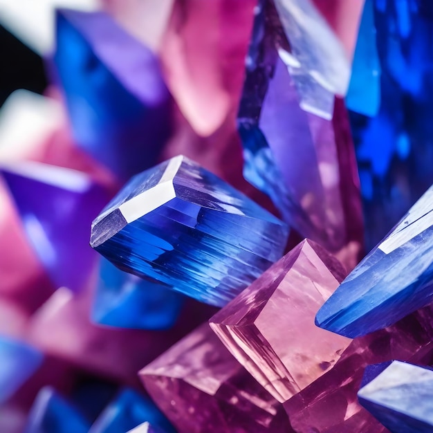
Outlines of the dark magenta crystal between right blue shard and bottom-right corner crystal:
{"label": "dark magenta crystal between right blue shard and bottom-right corner crystal", "polygon": [[433,363],[433,306],[408,315],[389,328],[353,340],[335,366],[284,403],[299,433],[387,432],[358,403],[365,367],[389,360]]}

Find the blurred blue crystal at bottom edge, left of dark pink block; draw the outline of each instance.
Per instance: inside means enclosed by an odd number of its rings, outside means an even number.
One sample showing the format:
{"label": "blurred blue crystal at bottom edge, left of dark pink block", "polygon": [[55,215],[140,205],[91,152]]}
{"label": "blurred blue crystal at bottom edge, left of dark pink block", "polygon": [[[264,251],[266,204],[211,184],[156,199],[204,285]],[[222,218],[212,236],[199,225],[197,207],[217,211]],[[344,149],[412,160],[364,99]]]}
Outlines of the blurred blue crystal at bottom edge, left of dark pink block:
{"label": "blurred blue crystal at bottom edge, left of dark pink block", "polygon": [[172,426],[149,398],[132,389],[123,389],[93,423],[89,433],[127,432],[145,421],[160,425],[167,433],[174,433]]}

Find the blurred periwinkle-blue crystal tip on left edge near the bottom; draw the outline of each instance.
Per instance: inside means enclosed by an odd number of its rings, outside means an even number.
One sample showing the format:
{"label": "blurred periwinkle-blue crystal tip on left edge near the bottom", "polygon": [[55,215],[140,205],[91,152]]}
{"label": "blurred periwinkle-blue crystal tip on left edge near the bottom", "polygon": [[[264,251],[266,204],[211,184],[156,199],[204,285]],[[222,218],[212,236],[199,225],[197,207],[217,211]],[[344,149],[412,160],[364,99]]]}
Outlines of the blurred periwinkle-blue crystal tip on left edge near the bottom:
{"label": "blurred periwinkle-blue crystal tip on left edge near the bottom", "polygon": [[42,353],[0,336],[0,404],[12,396],[42,364]]}

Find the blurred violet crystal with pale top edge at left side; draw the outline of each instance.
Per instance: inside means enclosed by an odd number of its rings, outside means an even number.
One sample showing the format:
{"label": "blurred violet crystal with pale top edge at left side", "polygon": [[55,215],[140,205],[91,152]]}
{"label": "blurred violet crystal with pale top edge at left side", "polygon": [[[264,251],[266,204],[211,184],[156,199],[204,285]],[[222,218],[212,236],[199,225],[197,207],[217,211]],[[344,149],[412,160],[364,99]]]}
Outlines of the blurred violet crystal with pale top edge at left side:
{"label": "blurred violet crystal with pale top edge at left side", "polygon": [[98,259],[88,246],[89,225],[109,194],[90,176],[53,165],[14,163],[0,174],[53,286],[80,291]]}

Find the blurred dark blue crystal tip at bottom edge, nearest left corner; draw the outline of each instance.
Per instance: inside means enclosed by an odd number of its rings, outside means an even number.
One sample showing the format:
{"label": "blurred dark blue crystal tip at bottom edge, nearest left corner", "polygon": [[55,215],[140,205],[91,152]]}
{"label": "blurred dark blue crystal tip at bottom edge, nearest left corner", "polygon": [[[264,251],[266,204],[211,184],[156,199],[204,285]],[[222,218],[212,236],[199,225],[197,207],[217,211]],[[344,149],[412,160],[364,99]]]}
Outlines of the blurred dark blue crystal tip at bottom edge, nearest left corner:
{"label": "blurred dark blue crystal tip at bottom edge, nearest left corner", "polygon": [[89,427],[83,416],[54,389],[44,387],[33,403],[24,433],[87,433]]}

